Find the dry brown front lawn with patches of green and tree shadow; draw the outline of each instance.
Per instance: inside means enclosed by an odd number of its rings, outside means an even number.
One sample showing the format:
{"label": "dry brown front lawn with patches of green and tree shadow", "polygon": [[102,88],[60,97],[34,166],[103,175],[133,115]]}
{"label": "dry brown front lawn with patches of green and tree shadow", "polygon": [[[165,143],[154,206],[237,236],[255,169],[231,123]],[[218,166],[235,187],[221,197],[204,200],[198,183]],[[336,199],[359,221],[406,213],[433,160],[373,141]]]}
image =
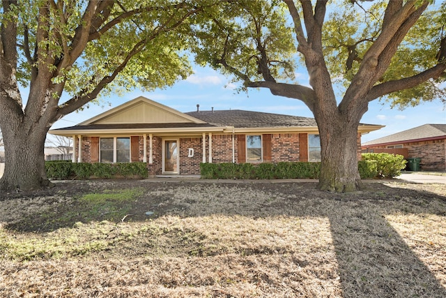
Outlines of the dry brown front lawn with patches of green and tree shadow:
{"label": "dry brown front lawn with patches of green and tree shadow", "polygon": [[0,297],[446,297],[446,185],[315,186],[98,180],[0,193]]}

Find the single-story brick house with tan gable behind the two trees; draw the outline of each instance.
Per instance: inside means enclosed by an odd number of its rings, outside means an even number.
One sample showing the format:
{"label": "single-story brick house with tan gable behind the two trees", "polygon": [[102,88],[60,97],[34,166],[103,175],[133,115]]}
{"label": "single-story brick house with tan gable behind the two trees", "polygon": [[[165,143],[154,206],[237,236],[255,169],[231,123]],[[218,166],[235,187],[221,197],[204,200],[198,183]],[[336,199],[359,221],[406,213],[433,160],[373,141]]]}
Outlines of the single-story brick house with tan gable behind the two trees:
{"label": "single-story brick house with tan gable behind the two trees", "polygon": [[[244,110],[179,112],[142,96],[76,126],[49,133],[72,137],[73,162],[147,163],[151,176],[198,175],[200,163],[319,161],[316,121]],[[383,126],[361,124],[357,133]]]}

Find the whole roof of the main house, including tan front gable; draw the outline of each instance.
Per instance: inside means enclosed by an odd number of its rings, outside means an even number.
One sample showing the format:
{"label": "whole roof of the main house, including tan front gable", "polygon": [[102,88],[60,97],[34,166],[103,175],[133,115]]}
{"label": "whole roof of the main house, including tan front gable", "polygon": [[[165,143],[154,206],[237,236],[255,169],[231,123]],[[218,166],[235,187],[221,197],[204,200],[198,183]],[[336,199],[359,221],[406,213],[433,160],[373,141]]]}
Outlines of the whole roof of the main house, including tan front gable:
{"label": "whole roof of the main house, including tan front gable", "polygon": [[[361,132],[376,131],[383,126],[360,124]],[[76,126],[50,130],[54,135],[112,135],[116,133],[317,133],[314,118],[252,112],[245,110],[212,110],[179,112],[139,96],[88,119]]]}

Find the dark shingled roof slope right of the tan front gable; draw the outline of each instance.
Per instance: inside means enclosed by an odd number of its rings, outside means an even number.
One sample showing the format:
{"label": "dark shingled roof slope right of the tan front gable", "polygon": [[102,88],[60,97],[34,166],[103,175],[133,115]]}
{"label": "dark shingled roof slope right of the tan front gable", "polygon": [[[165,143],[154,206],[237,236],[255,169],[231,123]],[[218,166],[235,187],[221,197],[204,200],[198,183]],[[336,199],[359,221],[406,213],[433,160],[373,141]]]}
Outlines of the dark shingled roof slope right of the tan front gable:
{"label": "dark shingled roof slope right of the tan front gable", "polygon": [[234,126],[235,128],[317,126],[313,118],[244,110],[200,111],[185,114],[215,126]]}

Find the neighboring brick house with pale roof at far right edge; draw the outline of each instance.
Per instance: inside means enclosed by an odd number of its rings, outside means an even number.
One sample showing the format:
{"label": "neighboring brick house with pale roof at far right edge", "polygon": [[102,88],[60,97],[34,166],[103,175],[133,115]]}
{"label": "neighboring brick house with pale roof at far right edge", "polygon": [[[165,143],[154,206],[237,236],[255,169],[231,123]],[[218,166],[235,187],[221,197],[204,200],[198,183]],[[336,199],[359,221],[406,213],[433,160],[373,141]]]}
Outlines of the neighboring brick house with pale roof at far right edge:
{"label": "neighboring brick house with pale roof at far right edge", "polygon": [[362,150],[406,150],[406,158],[421,158],[420,170],[446,171],[446,124],[424,124],[362,144]]}

